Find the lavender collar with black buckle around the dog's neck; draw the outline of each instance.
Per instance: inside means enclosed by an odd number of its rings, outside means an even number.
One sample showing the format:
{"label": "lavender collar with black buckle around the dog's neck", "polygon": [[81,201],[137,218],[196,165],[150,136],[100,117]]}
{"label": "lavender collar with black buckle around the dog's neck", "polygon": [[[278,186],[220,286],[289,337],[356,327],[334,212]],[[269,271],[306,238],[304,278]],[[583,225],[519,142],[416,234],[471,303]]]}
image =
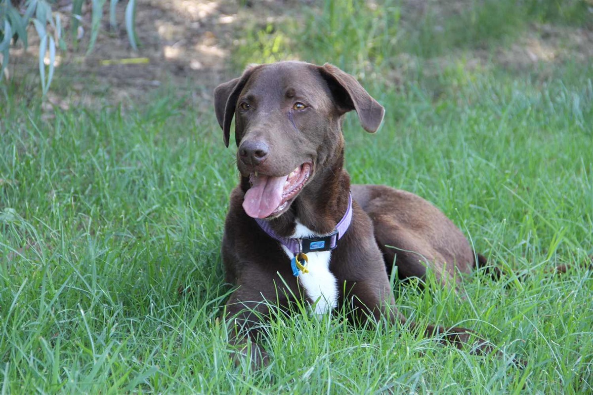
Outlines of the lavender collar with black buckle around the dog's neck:
{"label": "lavender collar with black buckle around the dog's neck", "polygon": [[276,232],[272,230],[268,221],[256,218],[257,224],[262,228],[273,239],[278,240],[283,246],[288,248],[292,253],[308,253],[308,252],[321,252],[331,251],[337,246],[337,240],[342,239],[342,236],[348,230],[350,223],[352,222],[352,194],[348,194],[348,208],[342,219],[337,223],[336,229],[327,236],[323,237],[307,237],[303,239],[292,239],[287,237],[280,237],[276,235]]}

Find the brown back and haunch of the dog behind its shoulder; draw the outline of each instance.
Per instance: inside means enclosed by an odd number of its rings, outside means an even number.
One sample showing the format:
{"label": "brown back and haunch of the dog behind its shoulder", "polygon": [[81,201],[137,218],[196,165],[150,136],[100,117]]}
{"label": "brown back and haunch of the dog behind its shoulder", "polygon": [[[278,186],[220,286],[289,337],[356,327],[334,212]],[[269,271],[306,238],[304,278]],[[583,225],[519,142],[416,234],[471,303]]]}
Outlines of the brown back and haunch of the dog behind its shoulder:
{"label": "brown back and haunch of the dog behind its shoulder", "polygon": [[441,210],[410,192],[385,185],[352,185],[352,196],[371,218],[387,271],[400,280],[423,278],[426,268],[443,283],[460,281],[474,267],[466,237]]}

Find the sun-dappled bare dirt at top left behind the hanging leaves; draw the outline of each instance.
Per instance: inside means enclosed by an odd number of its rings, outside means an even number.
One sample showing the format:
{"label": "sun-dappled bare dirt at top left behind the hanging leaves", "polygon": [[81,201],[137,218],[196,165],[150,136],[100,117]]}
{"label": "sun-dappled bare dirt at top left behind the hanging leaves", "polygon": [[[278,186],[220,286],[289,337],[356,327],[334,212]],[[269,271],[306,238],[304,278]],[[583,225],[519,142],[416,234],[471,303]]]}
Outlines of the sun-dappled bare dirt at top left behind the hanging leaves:
{"label": "sun-dappled bare dirt at top left behind the hanging leaves", "polygon": [[[105,8],[103,26],[90,54],[85,52],[91,7],[85,4],[84,36],[78,49],[70,46],[58,52],[48,109],[93,105],[106,98],[116,104],[142,103],[154,99],[162,86],[174,86],[178,94],[192,95],[196,101],[210,100],[212,89],[228,76],[230,49],[243,34],[244,25],[276,18],[287,5],[273,0],[141,0],[135,20],[141,46],[135,52],[125,30],[126,4],[117,6],[117,31],[110,30]],[[67,21],[71,2],[62,0],[59,6],[62,20]],[[36,38],[31,30],[28,49],[17,46],[11,50],[10,71],[17,82],[38,73]],[[39,86],[39,79],[31,85]]]}

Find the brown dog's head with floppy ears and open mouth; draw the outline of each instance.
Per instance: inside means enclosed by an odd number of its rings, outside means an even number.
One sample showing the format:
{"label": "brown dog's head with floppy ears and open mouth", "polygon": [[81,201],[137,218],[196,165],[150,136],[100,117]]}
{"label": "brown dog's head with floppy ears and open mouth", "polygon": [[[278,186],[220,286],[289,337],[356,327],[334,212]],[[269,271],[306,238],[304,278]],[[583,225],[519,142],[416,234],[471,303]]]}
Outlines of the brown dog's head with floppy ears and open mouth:
{"label": "brown dog's head with floppy ears and open mouth", "polygon": [[318,166],[342,155],[342,115],[356,110],[374,133],[384,114],[355,78],[327,63],[250,66],[214,98],[227,147],[235,117],[237,167],[250,182],[243,208],[256,218],[280,216]]}

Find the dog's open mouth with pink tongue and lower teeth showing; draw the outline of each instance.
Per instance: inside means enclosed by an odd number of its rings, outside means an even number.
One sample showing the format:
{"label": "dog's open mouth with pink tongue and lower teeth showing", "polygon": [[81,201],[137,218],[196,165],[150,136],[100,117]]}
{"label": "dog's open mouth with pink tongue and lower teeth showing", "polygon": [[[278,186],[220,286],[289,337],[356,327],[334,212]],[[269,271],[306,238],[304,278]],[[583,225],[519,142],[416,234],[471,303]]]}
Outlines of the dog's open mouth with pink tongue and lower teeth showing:
{"label": "dog's open mouth with pink tongue and lower teeth showing", "polygon": [[305,186],[310,174],[311,163],[303,163],[291,174],[279,177],[251,173],[251,188],[245,193],[243,209],[253,218],[266,218],[282,213]]}

